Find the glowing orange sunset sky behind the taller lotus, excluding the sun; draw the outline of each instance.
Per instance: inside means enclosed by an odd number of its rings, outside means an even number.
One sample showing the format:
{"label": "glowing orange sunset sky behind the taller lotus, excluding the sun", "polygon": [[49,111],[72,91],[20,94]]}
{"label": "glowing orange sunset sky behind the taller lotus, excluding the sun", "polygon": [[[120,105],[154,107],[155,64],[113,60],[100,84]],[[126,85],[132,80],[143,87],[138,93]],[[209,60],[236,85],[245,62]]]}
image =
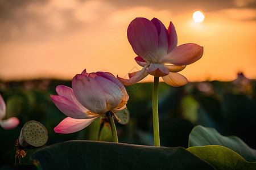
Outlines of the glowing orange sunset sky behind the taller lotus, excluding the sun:
{"label": "glowing orange sunset sky behind the taller lotus, excluding the sun", "polygon": [[[11,6],[0,0],[0,79],[72,79],[84,69],[127,77],[141,69],[126,36],[136,17],[155,17],[166,27],[172,21],[178,45],[204,46],[203,58],[180,72],[189,81],[233,80],[238,71],[255,79],[254,1],[184,2],[51,0]],[[204,12],[204,22],[193,22],[196,10]]]}

